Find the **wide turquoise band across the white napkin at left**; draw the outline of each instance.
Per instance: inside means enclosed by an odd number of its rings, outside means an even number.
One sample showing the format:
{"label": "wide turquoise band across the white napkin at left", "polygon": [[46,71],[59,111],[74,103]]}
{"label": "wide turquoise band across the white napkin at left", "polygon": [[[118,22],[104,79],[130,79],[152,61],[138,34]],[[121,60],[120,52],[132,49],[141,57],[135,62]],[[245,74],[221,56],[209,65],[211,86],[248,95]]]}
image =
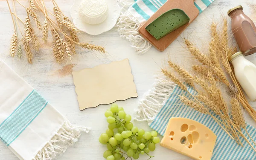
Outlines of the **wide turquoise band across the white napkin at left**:
{"label": "wide turquoise band across the white napkin at left", "polygon": [[46,107],[47,101],[35,90],[0,124],[0,139],[9,146]]}

